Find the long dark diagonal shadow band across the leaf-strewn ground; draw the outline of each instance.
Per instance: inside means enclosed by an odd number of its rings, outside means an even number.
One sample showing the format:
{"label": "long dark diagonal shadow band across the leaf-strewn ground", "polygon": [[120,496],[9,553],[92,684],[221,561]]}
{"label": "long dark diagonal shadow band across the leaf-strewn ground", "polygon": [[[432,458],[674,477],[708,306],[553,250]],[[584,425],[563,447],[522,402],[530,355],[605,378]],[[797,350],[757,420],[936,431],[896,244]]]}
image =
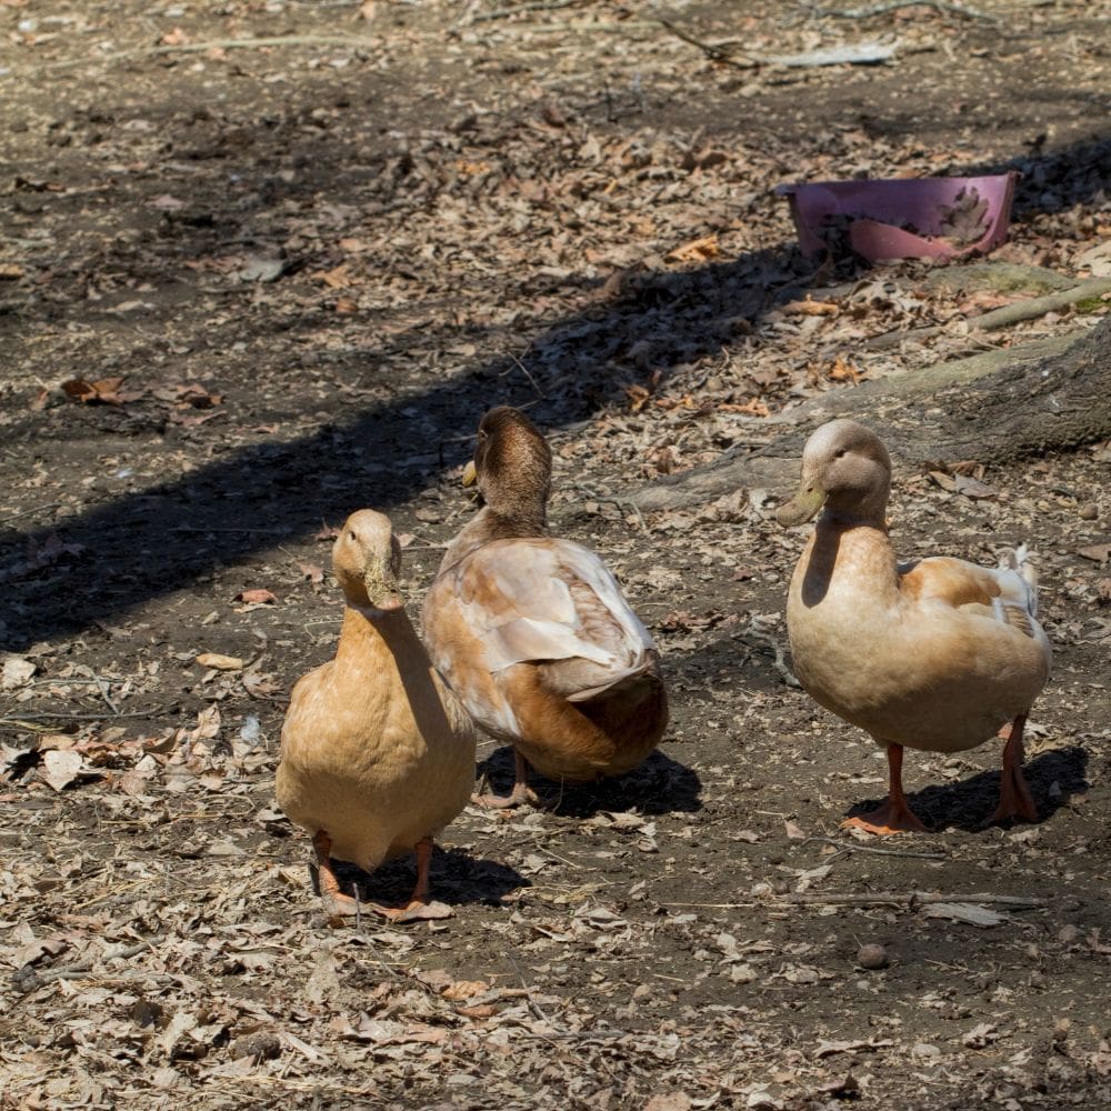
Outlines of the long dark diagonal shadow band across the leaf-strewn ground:
{"label": "long dark diagonal shadow band across the leaf-strewn ground", "polygon": [[[1012,168],[1025,174],[1018,211],[1029,218],[1047,207],[1047,183],[1068,172],[1073,174],[1069,203],[1111,186],[1111,141],[974,169]],[[210,251],[203,221],[192,231],[200,237],[197,254]],[[188,236],[190,229],[179,232]],[[183,251],[188,244],[178,242],[176,260]],[[810,272],[793,242],[690,271],[630,272],[608,300],[552,323],[533,342],[531,350],[546,368],[540,386],[573,376],[584,360],[612,364],[630,337],[667,337],[652,356],[652,364],[664,373],[720,351],[731,342],[723,319],[758,320],[804,292]],[[784,282],[784,274],[797,278]],[[371,348],[341,358],[357,364],[374,353]],[[501,377],[512,368],[510,359],[480,359],[462,374],[394,393],[342,424],[282,443],[249,444],[176,481],[91,508],[58,529],[63,548],[46,565],[33,553],[54,529],[4,530],[0,647],[20,651],[118,619],[191,585],[214,567],[271,548],[283,536],[316,530],[322,519],[334,521],[364,504],[386,511],[404,504],[434,482],[444,466],[466,457],[467,448],[457,441],[476,427],[482,411],[537,400],[519,376]],[[298,368],[287,369],[296,379]],[[593,392],[561,390],[557,398],[541,400],[533,414],[542,426],[565,426],[610,401],[617,384],[612,372],[602,374]],[[130,418],[101,410],[89,419],[118,429]],[[28,428],[24,438],[30,440],[34,431]],[[253,528],[240,528],[244,522]]]}

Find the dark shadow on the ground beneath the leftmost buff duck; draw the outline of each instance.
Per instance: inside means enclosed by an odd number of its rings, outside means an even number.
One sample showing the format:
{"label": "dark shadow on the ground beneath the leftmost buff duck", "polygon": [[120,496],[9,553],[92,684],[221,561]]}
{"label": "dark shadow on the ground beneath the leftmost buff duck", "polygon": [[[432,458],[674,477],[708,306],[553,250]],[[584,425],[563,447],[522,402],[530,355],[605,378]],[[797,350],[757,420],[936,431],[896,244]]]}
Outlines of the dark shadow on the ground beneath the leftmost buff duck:
{"label": "dark shadow on the ground beneath the leftmost buff duck", "polygon": [[[373,872],[364,872],[358,864],[341,860],[333,860],[332,867],[344,892],[357,890],[363,902],[382,907],[403,907],[417,881],[417,865],[411,854],[388,861]],[[313,888],[319,894],[314,867],[312,872]],[[529,880],[499,861],[439,845],[432,851],[429,891],[430,898],[437,902],[449,907],[500,907],[501,900],[511,891],[527,887],[531,887]]]}

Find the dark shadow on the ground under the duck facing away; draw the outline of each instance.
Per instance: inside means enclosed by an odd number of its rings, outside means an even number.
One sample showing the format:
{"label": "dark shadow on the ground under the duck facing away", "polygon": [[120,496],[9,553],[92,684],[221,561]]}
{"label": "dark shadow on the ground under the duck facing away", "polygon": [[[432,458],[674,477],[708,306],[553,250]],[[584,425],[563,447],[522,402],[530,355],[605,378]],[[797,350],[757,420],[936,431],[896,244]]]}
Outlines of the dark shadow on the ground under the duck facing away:
{"label": "dark shadow on the ground under the duck facing away", "polygon": [[[479,764],[489,790],[508,794],[513,785],[513,750],[498,749]],[[642,814],[693,813],[702,809],[702,781],[684,764],[659,750],[639,768],[594,783],[569,783],[531,772],[529,782],[548,801],[551,813],[590,818],[600,810],[637,810]]]}

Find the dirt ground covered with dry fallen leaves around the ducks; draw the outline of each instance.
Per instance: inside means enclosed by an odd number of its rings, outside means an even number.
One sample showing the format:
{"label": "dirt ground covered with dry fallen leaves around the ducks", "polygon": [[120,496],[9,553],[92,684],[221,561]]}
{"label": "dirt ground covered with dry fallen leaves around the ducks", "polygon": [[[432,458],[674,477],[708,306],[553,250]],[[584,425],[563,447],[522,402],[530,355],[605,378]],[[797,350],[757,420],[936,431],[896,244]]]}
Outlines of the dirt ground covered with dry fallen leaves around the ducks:
{"label": "dirt ground covered with dry fallen leaves around the ducks", "polygon": [[[1038,553],[1055,670],[1011,829],[988,744],[908,754],[929,835],[841,831],[885,768],[789,684],[787,491],[628,501],[799,400],[1105,313],[967,326],[1108,272],[1109,18],[0,0],[0,1107],[1111,1104],[1108,446],[897,474],[902,553]],[[858,42],[895,54],[782,60]],[[1007,169],[1013,289],[819,270],[772,192]],[[550,434],[552,522],[620,575],[673,723],[622,780],[538,784],[550,811],[468,809],[451,919],[331,930],[272,795],[337,639],[330,530],[388,511],[416,613],[502,402]]]}

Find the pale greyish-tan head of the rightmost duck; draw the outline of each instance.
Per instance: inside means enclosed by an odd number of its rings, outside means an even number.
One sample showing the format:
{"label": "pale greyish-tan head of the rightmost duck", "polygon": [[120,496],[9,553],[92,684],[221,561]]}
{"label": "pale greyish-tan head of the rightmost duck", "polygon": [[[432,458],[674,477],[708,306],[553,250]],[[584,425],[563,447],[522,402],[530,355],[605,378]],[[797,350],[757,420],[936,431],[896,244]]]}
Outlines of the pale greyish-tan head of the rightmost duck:
{"label": "pale greyish-tan head of the rightmost duck", "polygon": [[807,440],[799,490],[775,511],[780,524],[802,524],[823,508],[833,517],[883,527],[891,457],[880,438],[853,420],[832,420]]}

